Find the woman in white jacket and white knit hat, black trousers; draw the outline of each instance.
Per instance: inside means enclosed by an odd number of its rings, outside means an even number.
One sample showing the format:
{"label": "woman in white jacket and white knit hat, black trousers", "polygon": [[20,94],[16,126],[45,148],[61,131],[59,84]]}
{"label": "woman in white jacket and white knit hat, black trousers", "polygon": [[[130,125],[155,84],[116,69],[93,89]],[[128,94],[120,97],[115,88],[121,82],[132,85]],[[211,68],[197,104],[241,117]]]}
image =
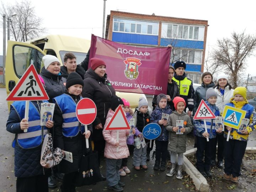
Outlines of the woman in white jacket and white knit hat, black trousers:
{"label": "woman in white jacket and white knit hat, black trousers", "polygon": [[[214,90],[217,92],[217,102],[216,106],[219,108],[220,114],[222,114],[224,106],[226,103],[230,102],[233,97],[234,90],[231,89],[231,85],[228,83],[228,76],[224,73],[220,73],[217,77],[217,85],[214,86]],[[224,139],[222,134],[217,134],[215,138],[215,145],[213,149],[212,162],[215,163],[216,159],[216,145],[218,143],[218,154],[217,154],[217,166],[219,168],[223,167],[223,151],[224,151]]]}

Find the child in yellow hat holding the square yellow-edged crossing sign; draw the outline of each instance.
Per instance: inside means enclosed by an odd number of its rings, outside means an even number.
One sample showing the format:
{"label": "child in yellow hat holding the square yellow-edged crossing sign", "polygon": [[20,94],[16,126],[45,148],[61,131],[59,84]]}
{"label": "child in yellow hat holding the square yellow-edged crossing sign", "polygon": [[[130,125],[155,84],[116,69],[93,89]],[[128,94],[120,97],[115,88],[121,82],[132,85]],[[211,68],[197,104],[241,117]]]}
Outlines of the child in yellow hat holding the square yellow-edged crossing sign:
{"label": "child in yellow hat holding the square yellow-edged crossing sign", "polygon": [[229,141],[225,139],[224,145],[224,179],[237,183],[249,134],[256,128],[256,113],[254,107],[248,104],[245,87],[236,87],[233,96],[226,105],[246,111],[245,118],[250,119],[249,125],[240,133],[231,127],[225,126],[224,129],[224,138],[227,138],[228,131],[231,131]]}

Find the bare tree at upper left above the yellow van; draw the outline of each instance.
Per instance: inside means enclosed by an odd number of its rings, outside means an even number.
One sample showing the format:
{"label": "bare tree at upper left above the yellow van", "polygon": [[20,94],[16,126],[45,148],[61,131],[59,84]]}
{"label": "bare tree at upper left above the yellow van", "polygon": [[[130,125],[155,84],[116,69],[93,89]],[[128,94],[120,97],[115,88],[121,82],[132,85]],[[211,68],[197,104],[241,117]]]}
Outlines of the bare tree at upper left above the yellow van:
{"label": "bare tree at upper left above the yellow van", "polygon": [[17,14],[15,17],[11,17],[10,22],[10,35],[14,37],[15,41],[25,42],[41,36],[45,31],[41,27],[43,19],[36,16],[31,1],[16,1],[14,5],[2,3],[0,12],[7,18]]}

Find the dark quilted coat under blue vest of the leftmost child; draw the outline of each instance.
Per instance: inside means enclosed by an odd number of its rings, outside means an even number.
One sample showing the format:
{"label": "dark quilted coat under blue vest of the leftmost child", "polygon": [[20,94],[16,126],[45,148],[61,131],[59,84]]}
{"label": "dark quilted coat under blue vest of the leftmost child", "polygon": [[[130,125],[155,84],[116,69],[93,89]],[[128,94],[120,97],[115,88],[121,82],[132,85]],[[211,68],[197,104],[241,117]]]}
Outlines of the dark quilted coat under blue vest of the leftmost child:
{"label": "dark quilted coat under blue vest of the leftmost child", "polygon": [[[39,101],[39,106],[37,101],[31,101],[34,106],[39,110],[42,101]],[[6,123],[6,130],[10,133],[19,134],[23,133],[20,128],[20,116],[11,106],[9,118]],[[16,140],[16,137],[15,137]],[[50,169],[43,168],[40,164],[41,159],[41,145],[32,149],[23,149],[15,142],[14,148],[14,174],[15,177],[33,177],[37,175],[50,175]]]}

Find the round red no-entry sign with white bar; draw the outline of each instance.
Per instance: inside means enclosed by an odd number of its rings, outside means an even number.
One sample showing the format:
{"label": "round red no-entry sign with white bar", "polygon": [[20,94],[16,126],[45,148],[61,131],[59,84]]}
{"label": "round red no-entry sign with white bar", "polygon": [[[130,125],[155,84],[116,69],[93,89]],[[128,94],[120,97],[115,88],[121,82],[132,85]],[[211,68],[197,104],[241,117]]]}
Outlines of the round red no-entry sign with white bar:
{"label": "round red no-entry sign with white bar", "polygon": [[97,108],[90,98],[82,98],[76,105],[76,117],[84,125],[91,124],[96,118]]}

